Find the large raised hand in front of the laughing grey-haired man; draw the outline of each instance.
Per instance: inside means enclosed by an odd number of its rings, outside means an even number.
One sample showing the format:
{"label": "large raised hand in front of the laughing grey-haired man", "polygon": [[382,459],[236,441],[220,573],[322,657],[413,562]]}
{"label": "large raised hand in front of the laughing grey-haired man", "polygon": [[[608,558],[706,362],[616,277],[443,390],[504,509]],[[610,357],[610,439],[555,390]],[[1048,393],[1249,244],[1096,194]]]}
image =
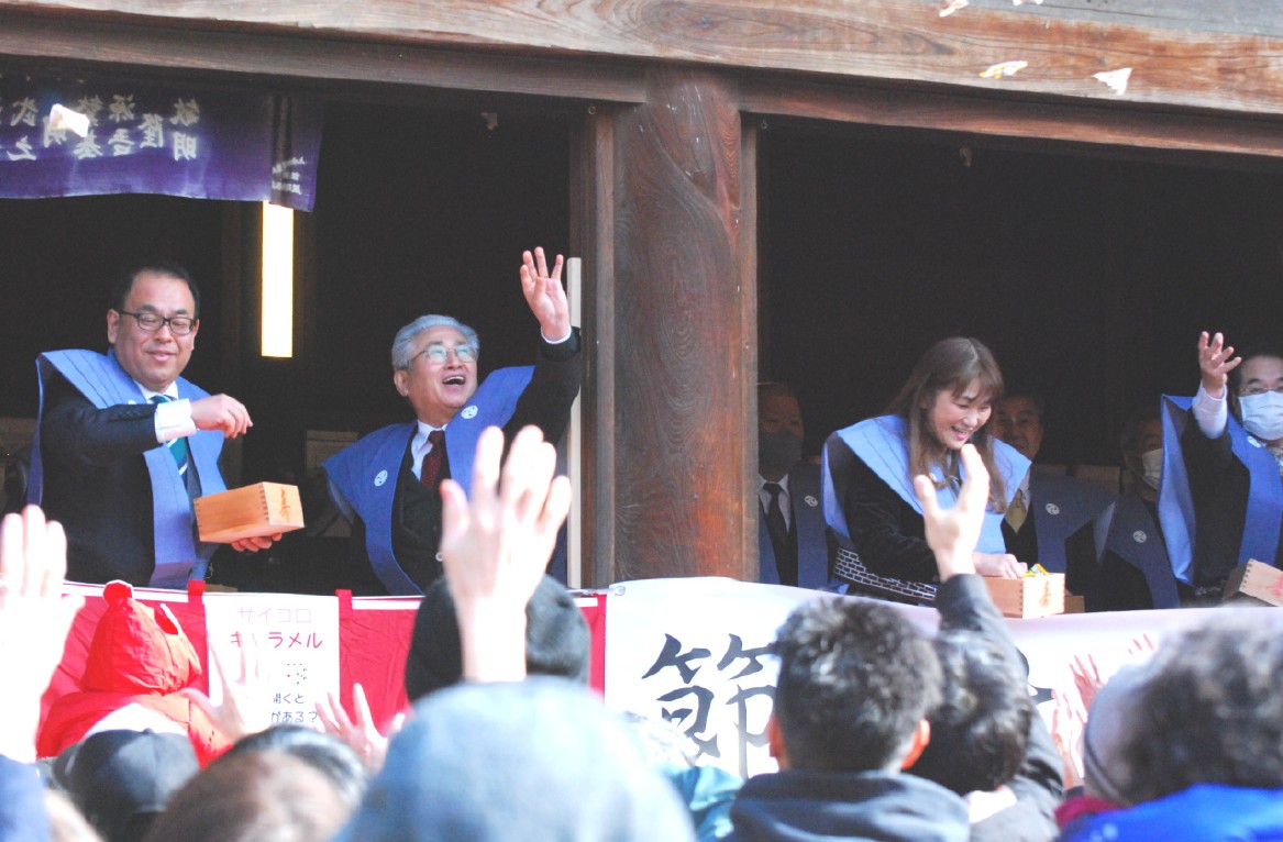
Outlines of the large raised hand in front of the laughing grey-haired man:
{"label": "large raised hand in front of the laughing grey-haired man", "polygon": [[570,512],[570,480],[553,477],[557,451],[538,427],[522,429],[500,471],[503,431],[477,442],[472,499],[441,483],[441,563],[454,599],[463,678],[526,676],[526,605],[543,579]]}

